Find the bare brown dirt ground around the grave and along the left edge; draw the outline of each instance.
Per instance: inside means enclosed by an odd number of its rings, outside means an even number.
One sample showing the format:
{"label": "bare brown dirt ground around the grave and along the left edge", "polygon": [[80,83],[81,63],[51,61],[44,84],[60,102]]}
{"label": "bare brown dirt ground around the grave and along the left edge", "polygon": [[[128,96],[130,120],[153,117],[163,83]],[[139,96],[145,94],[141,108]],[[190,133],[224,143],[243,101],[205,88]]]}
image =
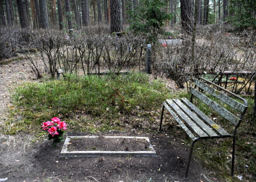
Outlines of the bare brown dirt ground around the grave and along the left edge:
{"label": "bare brown dirt ground around the grave and along the left edge", "polygon": [[[0,124],[7,121],[11,104],[10,90],[17,84],[33,80],[28,60],[0,66]],[[173,86],[174,87],[174,86]],[[3,128],[4,129],[4,128]],[[86,133],[70,133],[81,136]],[[47,138],[35,139],[33,134],[15,136],[0,134],[0,181],[7,182],[207,182],[218,180],[214,172],[203,168],[194,159],[189,180],[183,179],[189,148],[179,138],[166,134],[136,131],[108,132],[103,136],[147,136],[157,157],[100,156],[59,158],[63,144],[52,148]],[[8,179],[7,179],[8,178]],[[6,180],[7,179],[7,180]]]}

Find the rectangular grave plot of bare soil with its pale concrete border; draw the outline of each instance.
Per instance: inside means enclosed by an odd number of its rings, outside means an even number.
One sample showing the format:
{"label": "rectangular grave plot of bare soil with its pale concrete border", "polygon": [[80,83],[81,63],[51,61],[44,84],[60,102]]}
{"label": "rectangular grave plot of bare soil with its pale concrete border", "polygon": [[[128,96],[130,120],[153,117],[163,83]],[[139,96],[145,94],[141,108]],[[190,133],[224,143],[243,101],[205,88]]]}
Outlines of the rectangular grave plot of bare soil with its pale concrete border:
{"label": "rectangular grave plot of bare soil with its pale concrete border", "polygon": [[157,156],[148,137],[67,136],[59,157],[100,155]]}

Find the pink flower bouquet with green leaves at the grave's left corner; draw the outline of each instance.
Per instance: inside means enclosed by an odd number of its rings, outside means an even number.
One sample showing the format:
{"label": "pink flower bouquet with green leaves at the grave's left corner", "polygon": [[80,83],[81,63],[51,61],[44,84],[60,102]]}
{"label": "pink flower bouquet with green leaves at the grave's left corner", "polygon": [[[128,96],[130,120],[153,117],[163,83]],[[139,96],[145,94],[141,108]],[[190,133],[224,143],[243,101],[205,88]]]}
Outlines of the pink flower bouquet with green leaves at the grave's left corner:
{"label": "pink flower bouquet with green leaves at the grave's left corner", "polygon": [[52,121],[43,122],[42,128],[43,130],[47,130],[48,139],[53,139],[52,146],[55,147],[56,143],[61,143],[63,141],[63,135],[65,130],[67,129],[67,124],[65,122],[61,122],[61,119],[58,117],[53,117]]}

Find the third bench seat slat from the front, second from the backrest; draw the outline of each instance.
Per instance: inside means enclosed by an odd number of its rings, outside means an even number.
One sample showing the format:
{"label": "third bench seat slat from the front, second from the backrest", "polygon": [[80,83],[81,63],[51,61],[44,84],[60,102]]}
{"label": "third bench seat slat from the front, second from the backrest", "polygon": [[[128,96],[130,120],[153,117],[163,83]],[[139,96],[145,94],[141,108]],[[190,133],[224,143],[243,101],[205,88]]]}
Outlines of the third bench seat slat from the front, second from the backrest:
{"label": "third bench seat slat from the front, second from the backrest", "polygon": [[187,116],[192,119],[195,123],[197,123],[197,126],[201,128],[210,138],[212,137],[218,137],[219,135],[213,131],[213,129],[209,128],[207,124],[205,124],[199,117],[197,117],[194,112],[190,111],[189,108],[187,108],[179,99],[173,99],[173,101],[182,109],[183,112],[187,114]]}

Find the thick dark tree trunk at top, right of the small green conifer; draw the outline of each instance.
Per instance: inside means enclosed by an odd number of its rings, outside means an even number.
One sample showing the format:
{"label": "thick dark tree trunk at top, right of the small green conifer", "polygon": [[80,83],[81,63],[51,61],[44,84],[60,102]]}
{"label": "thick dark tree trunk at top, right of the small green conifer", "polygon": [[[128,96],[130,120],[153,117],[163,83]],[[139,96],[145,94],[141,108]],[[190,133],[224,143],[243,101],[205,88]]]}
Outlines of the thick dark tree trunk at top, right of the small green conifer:
{"label": "thick dark tree trunk at top, right of the small green conifer", "polygon": [[193,0],[180,0],[182,30],[189,34],[193,31]]}

